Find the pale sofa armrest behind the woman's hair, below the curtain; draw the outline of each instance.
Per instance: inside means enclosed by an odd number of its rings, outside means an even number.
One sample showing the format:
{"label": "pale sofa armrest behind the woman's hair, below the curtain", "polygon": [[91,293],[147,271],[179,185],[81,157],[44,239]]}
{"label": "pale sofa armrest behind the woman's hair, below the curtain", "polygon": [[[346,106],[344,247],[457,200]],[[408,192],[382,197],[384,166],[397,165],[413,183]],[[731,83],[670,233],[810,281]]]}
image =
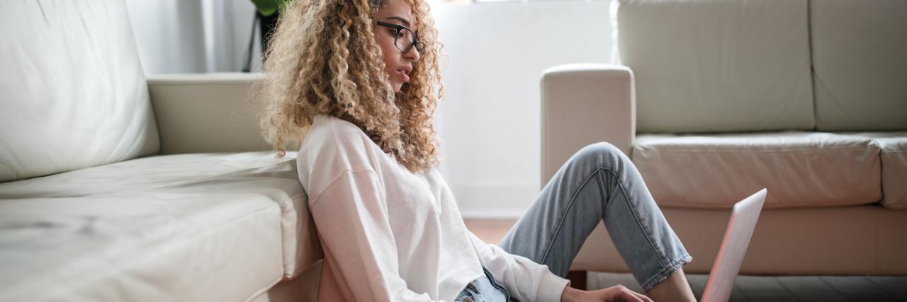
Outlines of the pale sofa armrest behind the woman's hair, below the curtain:
{"label": "pale sofa armrest behind the woman's hair, below the curtain", "polygon": [[148,77],[161,155],[268,150],[251,110],[256,73],[169,74]]}

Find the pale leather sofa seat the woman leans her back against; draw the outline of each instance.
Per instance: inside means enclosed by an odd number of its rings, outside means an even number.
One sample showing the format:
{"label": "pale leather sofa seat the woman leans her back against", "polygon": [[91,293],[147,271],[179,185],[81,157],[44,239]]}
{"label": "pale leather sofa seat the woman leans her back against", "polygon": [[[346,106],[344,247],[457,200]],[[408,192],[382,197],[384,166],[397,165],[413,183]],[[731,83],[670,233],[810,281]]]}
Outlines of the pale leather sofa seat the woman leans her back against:
{"label": "pale leather sofa seat the woman leans her back against", "polygon": [[154,156],[0,184],[0,300],[258,295],[321,257],[293,157]]}

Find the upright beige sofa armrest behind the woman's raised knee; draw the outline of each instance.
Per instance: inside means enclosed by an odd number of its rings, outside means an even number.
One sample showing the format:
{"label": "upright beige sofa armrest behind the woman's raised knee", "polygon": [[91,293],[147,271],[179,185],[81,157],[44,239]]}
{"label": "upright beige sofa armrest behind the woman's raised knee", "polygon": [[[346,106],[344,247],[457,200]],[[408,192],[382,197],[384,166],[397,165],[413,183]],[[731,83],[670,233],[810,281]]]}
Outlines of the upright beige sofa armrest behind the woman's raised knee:
{"label": "upright beige sofa armrest behind the woman's raised knee", "polygon": [[541,75],[541,186],[583,146],[609,142],[629,156],[636,93],[629,67],[568,64]]}

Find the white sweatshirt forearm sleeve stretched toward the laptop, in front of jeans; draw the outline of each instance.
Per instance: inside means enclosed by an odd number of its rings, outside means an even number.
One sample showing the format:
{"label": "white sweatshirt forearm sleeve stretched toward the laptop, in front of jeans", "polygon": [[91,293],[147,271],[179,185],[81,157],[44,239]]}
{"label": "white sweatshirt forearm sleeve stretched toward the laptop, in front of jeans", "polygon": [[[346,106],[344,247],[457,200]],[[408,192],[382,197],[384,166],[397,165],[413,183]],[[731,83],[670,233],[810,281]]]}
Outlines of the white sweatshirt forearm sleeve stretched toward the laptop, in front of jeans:
{"label": "white sweatshirt forearm sleeve stretched toward the laptop, in front of jeans", "polygon": [[504,284],[513,298],[520,301],[561,301],[561,294],[570,280],[558,277],[546,265],[485,243],[473,232],[469,234],[485,268]]}

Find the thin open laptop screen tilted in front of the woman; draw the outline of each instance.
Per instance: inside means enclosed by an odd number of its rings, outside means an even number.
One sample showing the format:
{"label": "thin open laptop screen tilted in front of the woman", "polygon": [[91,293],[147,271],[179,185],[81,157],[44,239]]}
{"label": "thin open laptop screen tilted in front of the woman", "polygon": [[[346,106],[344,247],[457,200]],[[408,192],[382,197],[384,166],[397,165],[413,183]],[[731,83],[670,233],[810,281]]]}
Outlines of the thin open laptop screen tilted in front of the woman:
{"label": "thin open laptop screen tilted in front of the woman", "polygon": [[731,219],[727,222],[725,238],[721,241],[712,272],[708,274],[706,289],[701,302],[725,302],[731,297],[734,281],[749,247],[749,240],[756,229],[762,204],[766,203],[766,189],[762,189],[734,204]]}

